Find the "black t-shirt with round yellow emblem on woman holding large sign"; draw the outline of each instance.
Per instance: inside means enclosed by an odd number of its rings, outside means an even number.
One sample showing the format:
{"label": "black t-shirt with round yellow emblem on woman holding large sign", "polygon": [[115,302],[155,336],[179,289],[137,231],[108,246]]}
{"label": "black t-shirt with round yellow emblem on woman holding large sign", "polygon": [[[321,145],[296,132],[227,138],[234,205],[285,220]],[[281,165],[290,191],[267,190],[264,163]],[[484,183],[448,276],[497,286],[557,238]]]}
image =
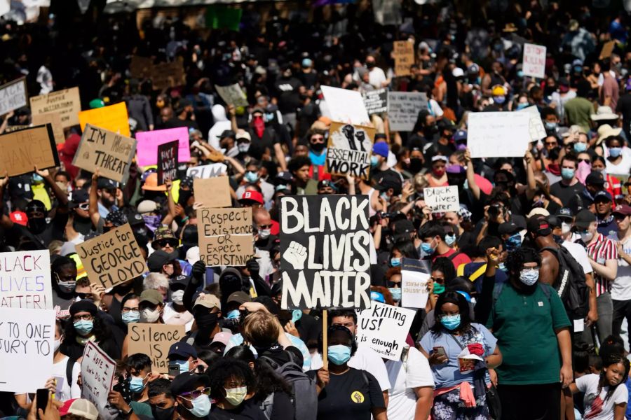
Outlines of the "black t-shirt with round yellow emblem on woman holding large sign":
{"label": "black t-shirt with round yellow emblem on woman holding large sign", "polygon": [[[307,372],[312,378],[316,373]],[[365,370],[349,367],[348,372],[329,377],[318,395],[318,420],[369,420],[374,407],[386,407],[379,382]]]}

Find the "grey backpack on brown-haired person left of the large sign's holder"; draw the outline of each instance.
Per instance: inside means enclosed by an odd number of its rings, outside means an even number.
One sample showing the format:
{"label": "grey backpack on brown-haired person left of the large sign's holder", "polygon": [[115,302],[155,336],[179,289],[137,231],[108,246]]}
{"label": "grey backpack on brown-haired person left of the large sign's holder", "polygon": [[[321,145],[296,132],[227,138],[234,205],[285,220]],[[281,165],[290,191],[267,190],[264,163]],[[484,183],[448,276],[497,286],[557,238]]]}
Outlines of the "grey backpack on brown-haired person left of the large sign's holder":
{"label": "grey backpack on brown-haired person left of the large sign's holder", "polygon": [[[272,367],[278,376],[282,377],[292,386],[293,395],[292,403],[295,408],[294,418],[299,420],[315,420],[318,414],[318,393],[315,391],[315,379],[311,379],[302,371],[302,367],[294,360],[291,351],[285,352],[289,355],[290,361],[284,365],[278,365],[274,360],[267,356],[260,356],[258,360],[265,360]],[[262,409],[264,414],[269,418],[273,408],[273,395],[264,400]]]}

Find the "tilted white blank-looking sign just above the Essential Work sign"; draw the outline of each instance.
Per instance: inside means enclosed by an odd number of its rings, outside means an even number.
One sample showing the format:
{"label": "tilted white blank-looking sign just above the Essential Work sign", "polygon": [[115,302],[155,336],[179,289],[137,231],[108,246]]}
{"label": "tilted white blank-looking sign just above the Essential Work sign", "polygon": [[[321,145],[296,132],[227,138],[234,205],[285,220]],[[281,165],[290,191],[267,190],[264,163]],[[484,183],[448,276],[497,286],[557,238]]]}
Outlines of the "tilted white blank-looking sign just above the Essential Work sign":
{"label": "tilted white blank-looking sign just above the Essential Work sign", "polygon": [[370,123],[360,92],[331,86],[322,86],[321,89],[329,109],[329,118],[349,124]]}

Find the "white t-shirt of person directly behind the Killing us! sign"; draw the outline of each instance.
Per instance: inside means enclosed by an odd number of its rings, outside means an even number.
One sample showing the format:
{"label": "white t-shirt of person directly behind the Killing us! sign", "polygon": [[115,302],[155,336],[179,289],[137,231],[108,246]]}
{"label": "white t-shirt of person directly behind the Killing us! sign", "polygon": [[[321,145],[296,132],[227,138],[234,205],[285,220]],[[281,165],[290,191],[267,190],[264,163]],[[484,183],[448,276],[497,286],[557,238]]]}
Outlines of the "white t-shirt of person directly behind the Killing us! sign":
{"label": "white t-shirt of person directly behind the Killing us! sign", "polygon": [[414,347],[409,348],[407,362],[386,360],[386,370],[392,388],[388,392],[388,419],[414,419],[416,393],[419,386],[434,387],[434,378],[429,362],[423,353]]}

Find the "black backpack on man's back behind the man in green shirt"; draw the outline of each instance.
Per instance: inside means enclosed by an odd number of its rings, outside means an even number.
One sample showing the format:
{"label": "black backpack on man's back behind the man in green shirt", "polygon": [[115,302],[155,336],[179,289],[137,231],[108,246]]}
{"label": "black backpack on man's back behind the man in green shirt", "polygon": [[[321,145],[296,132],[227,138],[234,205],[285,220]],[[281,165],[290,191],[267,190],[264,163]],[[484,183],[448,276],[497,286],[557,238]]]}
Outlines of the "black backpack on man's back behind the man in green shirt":
{"label": "black backpack on man's back behind the man in green shirt", "polygon": [[585,284],[585,272],[572,254],[563,246],[545,247],[559,261],[559,277],[554,288],[564,304],[570,319],[583,319],[590,311],[590,288]]}

